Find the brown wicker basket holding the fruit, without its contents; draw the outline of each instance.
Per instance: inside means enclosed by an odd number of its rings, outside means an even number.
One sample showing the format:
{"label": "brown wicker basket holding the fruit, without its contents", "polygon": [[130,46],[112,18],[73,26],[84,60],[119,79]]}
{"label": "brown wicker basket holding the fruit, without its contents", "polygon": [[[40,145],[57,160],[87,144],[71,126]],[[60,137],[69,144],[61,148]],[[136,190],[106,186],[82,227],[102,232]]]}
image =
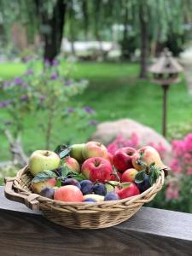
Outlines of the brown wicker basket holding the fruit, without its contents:
{"label": "brown wicker basket holding the fruit, without its contents", "polygon": [[45,218],[55,224],[73,229],[102,229],[119,224],[136,213],[145,202],[152,201],[163,186],[164,171],[156,183],[140,195],[119,201],[65,203],[32,193],[32,176],[28,166],[20,170],[16,177],[5,179],[5,196],[18,201],[32,210],[39,209]]}

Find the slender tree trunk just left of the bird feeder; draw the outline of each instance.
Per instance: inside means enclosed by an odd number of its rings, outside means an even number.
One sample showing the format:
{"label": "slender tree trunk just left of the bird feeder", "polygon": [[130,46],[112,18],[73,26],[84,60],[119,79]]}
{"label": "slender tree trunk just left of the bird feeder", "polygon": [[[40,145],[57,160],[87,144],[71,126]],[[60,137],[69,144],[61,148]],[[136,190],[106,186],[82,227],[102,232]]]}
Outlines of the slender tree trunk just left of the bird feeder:
{"label": "slender tree trunk just left of the bird feeder", "polygon": [[146,79],[148,77],[148,24],[145,20],[144,3],[139,4],[139,23],[141,33],[141,59],[140,59],[140,79]]}

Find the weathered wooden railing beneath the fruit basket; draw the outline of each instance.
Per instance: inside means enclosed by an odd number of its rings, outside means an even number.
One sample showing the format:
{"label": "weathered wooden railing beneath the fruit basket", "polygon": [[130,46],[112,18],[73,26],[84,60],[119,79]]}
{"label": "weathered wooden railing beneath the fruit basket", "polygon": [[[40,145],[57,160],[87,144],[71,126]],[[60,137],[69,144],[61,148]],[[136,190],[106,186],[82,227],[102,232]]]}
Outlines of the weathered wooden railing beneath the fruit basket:
{"label": "weathered wooden railing beneath the fruit basket", "polygon": [[142,207],[123,224],[70,230],[9,201],[0,187],[0,256],[192,255],[192,214]]}

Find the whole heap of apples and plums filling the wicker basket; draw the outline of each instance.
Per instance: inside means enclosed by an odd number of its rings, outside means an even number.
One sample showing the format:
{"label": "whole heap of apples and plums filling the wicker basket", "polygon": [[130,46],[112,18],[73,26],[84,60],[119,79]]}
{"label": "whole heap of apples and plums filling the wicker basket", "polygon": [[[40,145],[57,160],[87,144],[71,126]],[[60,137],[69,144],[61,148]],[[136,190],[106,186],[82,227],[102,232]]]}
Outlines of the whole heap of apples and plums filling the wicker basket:
{"label": "whole heap of apples and plums filling the wicker basket", "polygon": [[[37,150],[28,166],[34,193],[57,201],[87,203],[139,195],[151,186],[150,167],[167,167],[150,146],[119,148],[112,155],[96,142],[72,145],[62,160],[55,152]],[[61,172],[63,168],[70,172]]]}

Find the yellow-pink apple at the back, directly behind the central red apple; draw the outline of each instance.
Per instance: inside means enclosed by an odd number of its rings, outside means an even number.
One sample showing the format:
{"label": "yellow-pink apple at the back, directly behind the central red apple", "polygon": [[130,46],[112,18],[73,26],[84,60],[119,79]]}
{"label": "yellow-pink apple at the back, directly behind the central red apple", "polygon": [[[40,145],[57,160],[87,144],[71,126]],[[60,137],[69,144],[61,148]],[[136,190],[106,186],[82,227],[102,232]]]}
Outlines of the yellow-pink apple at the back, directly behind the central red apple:
{"label": "yellow-pink apple at the back, directly behind the central red apple", "polygon": [[108,149],[102,143],[89,142],[84,145],[82,154],[85,160],[91,157],[108,158]]}

